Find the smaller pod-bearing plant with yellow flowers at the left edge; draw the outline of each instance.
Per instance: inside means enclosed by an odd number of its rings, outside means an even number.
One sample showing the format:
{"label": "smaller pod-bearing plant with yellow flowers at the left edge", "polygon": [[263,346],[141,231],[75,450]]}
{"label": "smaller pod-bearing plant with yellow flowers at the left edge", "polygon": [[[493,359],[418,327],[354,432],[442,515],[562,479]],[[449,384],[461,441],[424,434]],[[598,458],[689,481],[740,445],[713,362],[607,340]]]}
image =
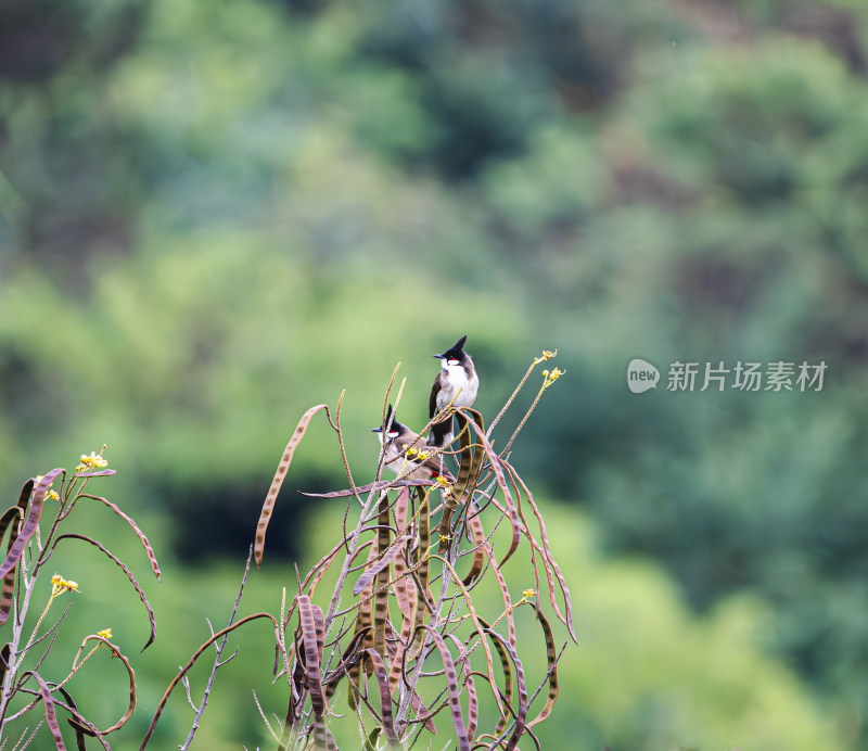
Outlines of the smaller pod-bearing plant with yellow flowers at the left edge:
{"label": "smaller pod-bearing plant with yellow flowers at the left edge", "polygon": [[[73,473],[55,469],[44,476],[28,480],[22,487],[18,502],[0,517],[0,539],[8,535],[7,555],[0,565],[0,577],[3,582],[0,595],[0,626],[2,626],[2,638],[5,639],[5,644],[0,648],[0,684],[2,684],[0,748],[7,748],[8,742],[14,740],[13,727],[16,728],[18,738],[10,748],[27,748],[37,739],[37,733],[44,724],[55,748],[64,749],[58,721],[58,710],[63,710],[68,715],[66,720],[75,733],[79,749],[86,748],[87,738],[94,738],[102,748],[108,749],[105,737],[123,727],[136,709],[135,674],[127,658],[110,641],[111,628],[84,637],[72,659],[68,673],[60,680],[50,679],[42,672],[46,659],[58,644],[61,623],[69,609],[67,603],[59,615],[50,618],[52,603],[55,599],[80,591],[77,582],[50,573],[48,564],[59,545],[87,543],[119,567],[148,612],[151,635],[143,649],[151,646],[156,636],[154,612],[127,565],[99,540],[79,532],[65,531],[68,526],[67,517],[76,504],[99,501],[132,529],[144,547],[154,575],[159,578],[156,556],[136,522],[105,498],[86,493],[91,479],[115,473],[114,470],[105,469],[107,462],[102,457],[104,451],[103,446],[103,451],[99,455],[93,451],[90,456],[82,455],[81,463]],[[47,532],[40,529],[42,525],[47,527]],[[40,598],[44,596],[48,597],[48,601],[33,624],[33,619],[28,620],[27,615],[31,608],[39,607],[37,603],[43,601]],[[81,714],[67,686],[73,676],[82,670],[101,648],[107,650],[112,658],[119,660],[129,677],[129,701],[126,711],[114,725],[105,729],[95,727]],[[12,725],[15,721],[18,722]]]}

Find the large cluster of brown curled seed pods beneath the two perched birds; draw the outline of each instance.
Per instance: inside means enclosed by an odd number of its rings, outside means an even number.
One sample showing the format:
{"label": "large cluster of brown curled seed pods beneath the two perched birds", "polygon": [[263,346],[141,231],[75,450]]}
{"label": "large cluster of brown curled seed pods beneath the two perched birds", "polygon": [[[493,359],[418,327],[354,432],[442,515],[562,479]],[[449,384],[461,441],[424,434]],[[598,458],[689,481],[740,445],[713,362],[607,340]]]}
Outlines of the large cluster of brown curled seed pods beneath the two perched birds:
{"label": "large cluster of brown curled seed pods beneath the two perched birds", "polygon": [[[459,425],[457,447],[443,449],[458,462],[451,485],[443,478],[408,480],[401,474],[381,480],[381,457],[375,481],[357,486],[341,430],[343,395],[334,421],[326,405],[304,415],[261,510],[254,548],[257,564],[295,448],[321,410],[337,434],[350,487],[318,494],[347,499],[342,537],[304,578],[298,577],[297,594],[275,622],[279,667],[290,691],[285,722],[271,728],[279,748],[336,749],[329,725],[337,714],[339,690],[357,717],[359,748],[407,749],[420,739],[422,748],[430,748],[430,734],[436,733],[433,718],[446,710],[455,735],[437,746],[451,746],[454,740],[467,751],[509,750],[529,737],[539,748],[533,727],[551,713],[558,697],[557,663],[563,650],[556,648],[542,598],[537,597],[540,585],[557,619],[575,636],[570,594],[549,548],[542,515],[508,457],[515,435],[561,371],[544,371],[537,398],[499,454],[489,436],[534,367],[551,357],[546,352],[535,359],[487,432],[477,411],[452,408]],[[384,431],[394,381],[395,374],[383,403]],[[396,403],[403,390],[404,382]],[[354,508],[360,511],[350,529]],[[500,525],[509,532],[503,552],[495,549]],[[528,552],[526,578],[535,588],[514,598],[501,570],[523,542]],[[318,598],[317,585],[329,569],[336,569],[336,583],[330,595]],[[489,578],[496,582],[501,603],[484,613],[475,593]],[[322,604],[315,603],[317,599]],[[538,686],[528,686],[522,663],[514,622],[519,608],[533,610],[546,645],[547,670]],[[484,720],[482,691],[490,696],[496,713]],[[534,716],[532,705],[538,707]],[[341,712],[346,712],[343,705]]]}

